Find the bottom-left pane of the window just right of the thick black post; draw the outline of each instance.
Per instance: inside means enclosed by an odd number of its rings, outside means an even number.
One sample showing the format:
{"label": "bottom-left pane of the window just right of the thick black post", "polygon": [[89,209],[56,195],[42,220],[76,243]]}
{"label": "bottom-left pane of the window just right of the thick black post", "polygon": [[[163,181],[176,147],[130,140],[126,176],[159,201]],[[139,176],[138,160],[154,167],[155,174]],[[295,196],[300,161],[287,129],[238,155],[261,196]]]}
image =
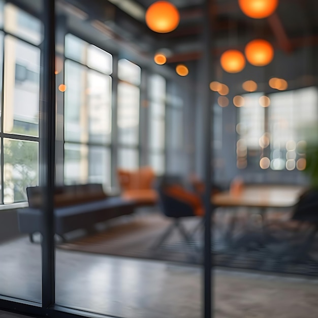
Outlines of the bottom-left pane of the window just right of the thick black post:
{"label": "bottom-left pane of the window just right of the thick black post", "polygon": [[88,180],[88,147],[86,145],[64,145],[64,182],[80,184]]}

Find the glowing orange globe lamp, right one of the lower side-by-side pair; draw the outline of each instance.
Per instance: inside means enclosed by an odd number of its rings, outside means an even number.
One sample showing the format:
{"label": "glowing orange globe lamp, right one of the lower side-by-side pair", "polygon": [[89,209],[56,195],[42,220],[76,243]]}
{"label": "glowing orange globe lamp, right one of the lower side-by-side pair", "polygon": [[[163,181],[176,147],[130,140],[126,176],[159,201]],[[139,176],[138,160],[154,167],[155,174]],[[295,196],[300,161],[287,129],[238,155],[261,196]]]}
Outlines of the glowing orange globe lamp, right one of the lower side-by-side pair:
{"label": "glowing orange globe lamp, right one of the lower side-by-side pair", "polygon": [[254,66],[268,65],[274,57],[272,45],[261,39],[253,40],[245,46],[246,59]]}

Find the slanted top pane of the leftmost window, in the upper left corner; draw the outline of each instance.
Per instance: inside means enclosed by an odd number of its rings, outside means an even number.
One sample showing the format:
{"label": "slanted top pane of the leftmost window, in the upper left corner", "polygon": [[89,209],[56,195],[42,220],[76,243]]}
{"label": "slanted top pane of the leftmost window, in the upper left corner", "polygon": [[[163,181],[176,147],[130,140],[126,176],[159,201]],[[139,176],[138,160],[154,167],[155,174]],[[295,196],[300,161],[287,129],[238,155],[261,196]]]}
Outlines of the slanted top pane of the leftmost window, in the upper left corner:
{"label": "slanted top pane of the leftmost window, in the upper left corner", "polygon": [[10,3],[5,5],[5,30],[36,45],[43,40],[41,21]]}

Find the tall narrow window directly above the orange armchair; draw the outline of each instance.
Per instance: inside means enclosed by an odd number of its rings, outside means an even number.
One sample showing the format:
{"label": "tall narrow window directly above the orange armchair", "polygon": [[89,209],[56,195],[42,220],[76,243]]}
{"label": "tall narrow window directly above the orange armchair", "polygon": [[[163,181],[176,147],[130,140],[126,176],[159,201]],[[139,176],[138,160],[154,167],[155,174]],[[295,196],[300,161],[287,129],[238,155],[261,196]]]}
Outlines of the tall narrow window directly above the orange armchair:
{"label": "tall narrow window directly above the orange armchair", "polygon": [[118,61],[118,162],[120,168],[139,166],[139,107],[141,69],[133,62]]}

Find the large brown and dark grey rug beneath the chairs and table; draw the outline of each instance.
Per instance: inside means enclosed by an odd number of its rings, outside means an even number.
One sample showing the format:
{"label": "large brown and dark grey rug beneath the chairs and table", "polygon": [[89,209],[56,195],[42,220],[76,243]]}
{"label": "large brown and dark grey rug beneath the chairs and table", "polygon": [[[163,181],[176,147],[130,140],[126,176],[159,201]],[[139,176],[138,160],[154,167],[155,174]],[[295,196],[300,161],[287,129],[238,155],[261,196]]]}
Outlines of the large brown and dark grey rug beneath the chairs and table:
{"label": "large brown and dark grey rug beneath the chairs and table", "polygon": [[[186,218],[182,224],[192,232],[199,226],[198,218]],[[104,231],[58,244],[57,248],[103,255],[202,264],[203,231],[199,228],[190,244],[175,231],[160,248],[154,248],[158,238],[171,224],[171,219],[160,213],[126,216],[112,222]],[[213,262],[216,266],[252,269],[266,272],[318,276],[318,250],[305,260],[284,260],[280,246],[229,250],[222,237],[222,225],[214,230]]]}

